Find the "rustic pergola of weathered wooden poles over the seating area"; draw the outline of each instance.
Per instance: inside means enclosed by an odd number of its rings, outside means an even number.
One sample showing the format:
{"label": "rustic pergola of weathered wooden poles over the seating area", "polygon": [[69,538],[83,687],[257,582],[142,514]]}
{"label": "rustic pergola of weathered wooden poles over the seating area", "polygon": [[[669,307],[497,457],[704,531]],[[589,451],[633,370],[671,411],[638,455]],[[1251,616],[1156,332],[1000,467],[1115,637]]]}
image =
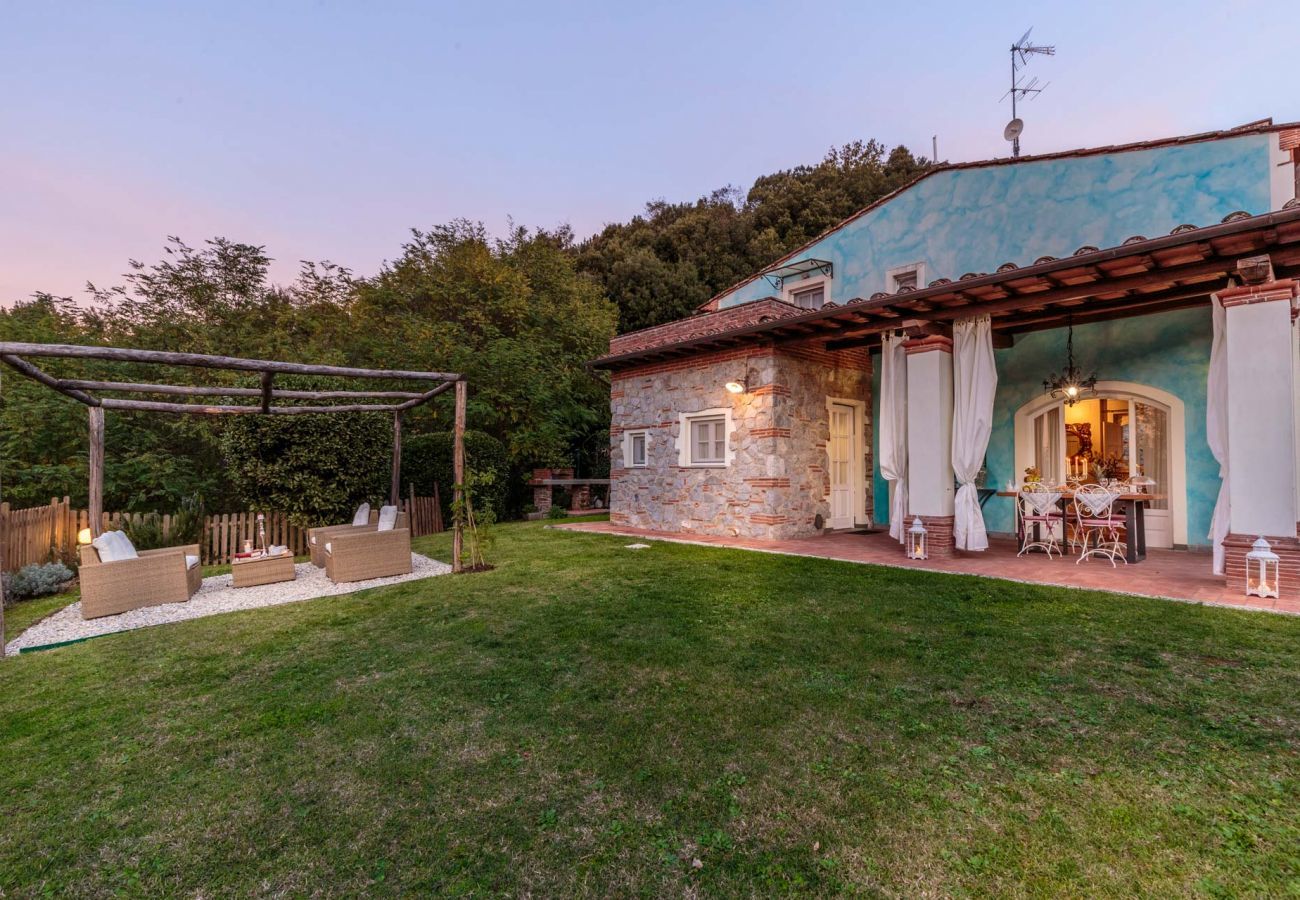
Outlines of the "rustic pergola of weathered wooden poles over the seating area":
{"label": "rustic pergola of weathered wooden poles over the seating area", "polygon": [[[248,372],[260,376],[260,388],[234,388],[224,385],[146,384],[134,381],[88,381],[60,378],[38,368],[31,359],[94,359],[113,363],[144,365],[181,365],[225,372]],[[166,352],[160,350],[131,350],[126,347],[87,347],[70,343],[17,343],[0,342],[0,362],[32,381],[83,403],[90,411],[90,527],[99,535],[104,519],[104,410],[129,412],[165,412],[178,415],[272,415],[299,416],[335,412],[390,412],[393,414],[393,472],[389,502],[400,501],[402,477],[402,416],[407,410],[428,403],[452,388],[456,391],[456,416],[452,445],[452,471],[455,502],[460,502],[465,470],[465,380],[455,372],[411,372],[404,369],[367,369],[347,365],[313,365],[285,363],[270,359],[242,359],[239,356],[212,356],[207,354]],[[433,382],[424,390],[285,390],[274,386],[277,375],[313,375],[338,378],[386,378],[394,381]],[[422,385],[421,385],[422,386]],[[94,391],[94,393],[92,393]],[[138,399],[131,397],[100,397],[99,394],[151,394],[178,398],[250,398],[252,403],[186,403],[178,401]],[[302,406],[277,406],[276,401],[307,401]],[[328,403],[328,401],[343,401]],[[361,401],[361,402],[359,402]],[[381,402],[364,402],[381,401]],[[312,404],[315,402],[315,404]],[[460,571],[462,528],[459,520],[452,531],[454,571]]]}

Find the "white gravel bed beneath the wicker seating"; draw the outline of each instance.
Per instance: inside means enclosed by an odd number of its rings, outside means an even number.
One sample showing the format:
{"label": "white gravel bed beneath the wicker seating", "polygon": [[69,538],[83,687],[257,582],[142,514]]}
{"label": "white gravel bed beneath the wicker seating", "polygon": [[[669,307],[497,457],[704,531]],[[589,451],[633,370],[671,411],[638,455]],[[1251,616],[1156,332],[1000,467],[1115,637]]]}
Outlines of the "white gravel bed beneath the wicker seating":
{"label": "white gravel bed beneath the wicker seating", "polygon": [[161,626],[168,622],[202,619],[205,615],[217,615],[220,613],[254,610],[261,606],[280,606],[281,603],[316,600],[317,597],[350,594],[385,584],[400,584],[402,581],[446,575],[451,571],[451,566],[421,557],[419,553],[412,553],[410,575],[370,579],[369,581],[351,581],[348,584],[333,584],[325,576],[324,568],[316,568],[309,562],[298,563],[294,566],[294,570],[296,577],[292,581],[259,584],[254,588],[234,588],[230,585],[229,575],[213,575],[212,577],[203,579],[203,587],[183,603],[146,606],[129,613],[120,613],[118,615],[105,615],[99,619],[82,619],[81,601],[77,601],[49,618],[38,622],[9,641],[6,652],[17,653],[25,646],[44,646],[61,641],[74,641],[82,637],[112,635],[118,631]]}

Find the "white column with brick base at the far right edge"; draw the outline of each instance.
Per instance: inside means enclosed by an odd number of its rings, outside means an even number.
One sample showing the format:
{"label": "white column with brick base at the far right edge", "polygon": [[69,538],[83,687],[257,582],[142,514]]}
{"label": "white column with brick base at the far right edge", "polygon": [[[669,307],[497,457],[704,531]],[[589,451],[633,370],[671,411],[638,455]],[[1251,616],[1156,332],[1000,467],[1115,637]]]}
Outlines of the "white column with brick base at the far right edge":
{"label": "white column with brick base at the far right edge", "polygon": [[1228,536],[1225,577],[1244,590],[1245,554],[1264,536],[1282,557],[1284,597],[1300,597],[1291,319],[1295,278],[1219,291],[1227,334]]}

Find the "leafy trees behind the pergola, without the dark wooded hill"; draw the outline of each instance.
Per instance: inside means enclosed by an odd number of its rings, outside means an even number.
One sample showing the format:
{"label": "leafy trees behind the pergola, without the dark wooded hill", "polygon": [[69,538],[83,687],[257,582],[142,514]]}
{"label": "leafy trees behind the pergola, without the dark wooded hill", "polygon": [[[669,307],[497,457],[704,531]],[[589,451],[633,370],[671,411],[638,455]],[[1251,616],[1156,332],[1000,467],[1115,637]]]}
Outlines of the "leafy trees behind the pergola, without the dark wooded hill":
{"label": "leafy trees behind the pergola, without the dark wooded hill", "polygon": [[[0,339],[460,371],[472,388],[469,421],[504,446],[516,497],[532,467],[569,462],[571,447],[606,427],[607,388],[586,362],[608,346],[615,310],[576,273],[564,233],[519,229],[491,242],[465,222],[416,232],[369,280],[318,264],[281,287],[268,280],[269,261],[248,245],[195,248],[173,238],[161,263],[133,263],[121,287],[92,289],[91,308],[39,297],[0,310]],[[256,384],[211,371],[47,365],[120,381]],[[407,421],[412,437],[445,432],[451,394]],[[110,412],[105,446],[105,509],[174,510],[200,494],[213,511],[261,505],[315,522],[387,493],[391,420]],[[0,453],[14,506],[65,493],[86,502],[81,404],[6,372]]]}

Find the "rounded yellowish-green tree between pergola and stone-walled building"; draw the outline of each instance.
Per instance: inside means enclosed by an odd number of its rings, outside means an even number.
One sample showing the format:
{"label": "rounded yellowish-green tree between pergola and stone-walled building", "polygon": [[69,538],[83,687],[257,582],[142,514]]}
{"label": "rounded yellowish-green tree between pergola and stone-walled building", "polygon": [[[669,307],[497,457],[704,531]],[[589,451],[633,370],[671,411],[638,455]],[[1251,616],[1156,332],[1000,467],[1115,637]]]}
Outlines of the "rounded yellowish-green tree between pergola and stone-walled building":
{"label": "rounded yellowish-green tree between pergola and stone-walled building", "polygon": [[468,376],[468,419],[506,446],[516,473],[566,462],[576,433],[608,416],[607,385],[586,363],[608,347],[615,310],[575,272],[571,243],[525,229],[490,242],[458,221],[412,232],[358,287],[370,342],[402,347],[407,365]]}

